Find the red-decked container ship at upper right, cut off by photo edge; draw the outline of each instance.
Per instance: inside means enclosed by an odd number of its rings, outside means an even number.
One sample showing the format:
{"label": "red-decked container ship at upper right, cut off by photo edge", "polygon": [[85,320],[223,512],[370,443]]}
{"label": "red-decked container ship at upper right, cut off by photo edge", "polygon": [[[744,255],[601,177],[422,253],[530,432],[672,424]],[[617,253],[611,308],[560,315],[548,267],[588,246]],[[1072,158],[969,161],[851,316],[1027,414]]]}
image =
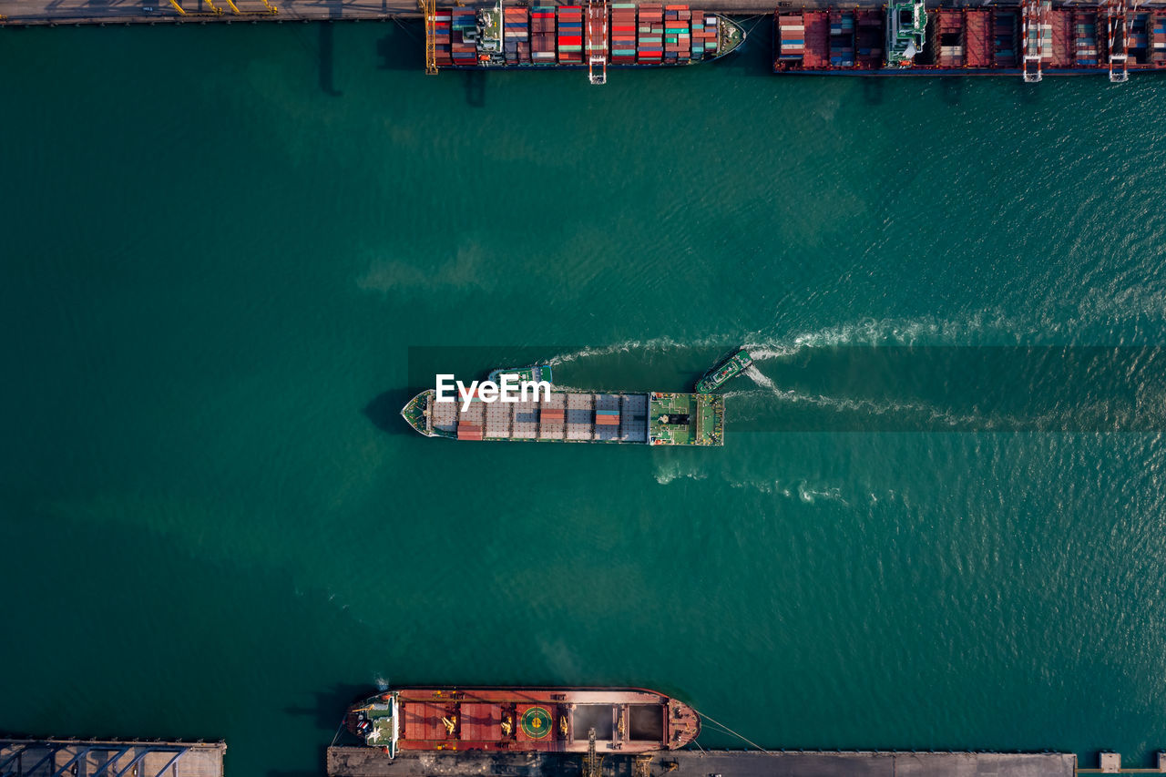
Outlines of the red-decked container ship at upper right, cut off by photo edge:
{"label": "red-decked container ship at upper right, cut off by photo edge", "polygon": [[1166,8],[1023,5],[779,8],[773,70],[806,75],[1045,75],[1166,69]]}

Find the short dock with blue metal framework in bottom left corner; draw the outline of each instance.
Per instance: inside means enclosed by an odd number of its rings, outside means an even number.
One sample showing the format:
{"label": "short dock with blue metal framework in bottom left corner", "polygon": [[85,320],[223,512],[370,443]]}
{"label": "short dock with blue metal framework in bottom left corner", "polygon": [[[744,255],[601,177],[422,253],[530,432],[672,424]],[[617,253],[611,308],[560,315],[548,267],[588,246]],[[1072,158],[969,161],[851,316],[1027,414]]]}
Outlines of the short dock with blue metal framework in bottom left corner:
{"label": "short dock with blue metal framework in bottom left corner", "polygon": [[223,777],[225,742],[0,738],[0,777]]}

